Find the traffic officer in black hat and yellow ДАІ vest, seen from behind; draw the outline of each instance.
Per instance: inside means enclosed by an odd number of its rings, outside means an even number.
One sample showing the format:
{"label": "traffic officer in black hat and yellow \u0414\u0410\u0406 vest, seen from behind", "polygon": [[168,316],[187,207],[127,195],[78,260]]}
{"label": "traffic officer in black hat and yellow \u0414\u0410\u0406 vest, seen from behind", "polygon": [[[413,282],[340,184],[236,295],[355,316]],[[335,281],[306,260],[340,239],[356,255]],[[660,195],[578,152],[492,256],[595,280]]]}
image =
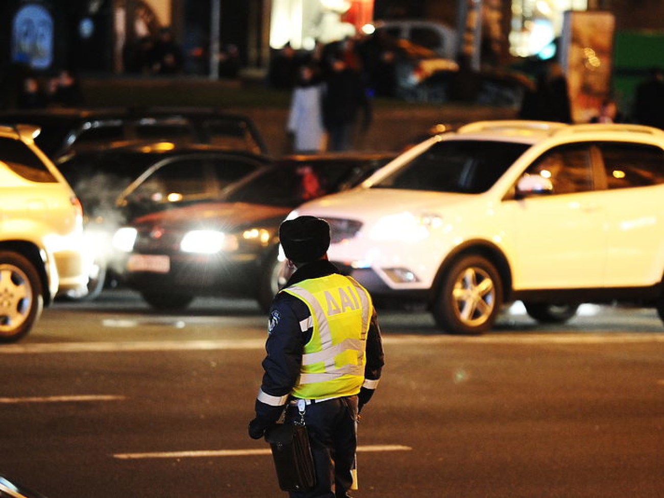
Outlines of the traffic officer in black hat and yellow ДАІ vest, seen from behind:
{"label": "traffic officer in black hat and yellow \u0414\u0410\u0406 vest, seen from behind", "polygon": [[[264,376],[249,435],[261,438],[286,408],[286,422],[304,420],[316,484],[291,497],[347,497],[353,483],[357,418],[384,364],[369,292],[327,260],[325,220],[299,216],[282,223],[280,242],[296,268],[270,311]],[[332,481],[334,477],[334,481]]]}

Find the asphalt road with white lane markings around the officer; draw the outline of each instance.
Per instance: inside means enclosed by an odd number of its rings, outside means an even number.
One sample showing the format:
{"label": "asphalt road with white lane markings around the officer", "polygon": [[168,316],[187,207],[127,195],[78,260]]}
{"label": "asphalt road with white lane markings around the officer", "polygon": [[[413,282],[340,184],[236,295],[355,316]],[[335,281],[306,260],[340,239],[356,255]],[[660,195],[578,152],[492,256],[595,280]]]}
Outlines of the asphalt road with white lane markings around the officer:
{"label": "asphalt road with white lane markings around the officer", "polygon": [[[481,337],[380,313],[355,496],[664,496],[664,327],[583,311],[565,327],[505,313]],[[246,435],[265,334],[251,301],[56,303],[0,347],[0,473],[48,498],[285,496]]]}

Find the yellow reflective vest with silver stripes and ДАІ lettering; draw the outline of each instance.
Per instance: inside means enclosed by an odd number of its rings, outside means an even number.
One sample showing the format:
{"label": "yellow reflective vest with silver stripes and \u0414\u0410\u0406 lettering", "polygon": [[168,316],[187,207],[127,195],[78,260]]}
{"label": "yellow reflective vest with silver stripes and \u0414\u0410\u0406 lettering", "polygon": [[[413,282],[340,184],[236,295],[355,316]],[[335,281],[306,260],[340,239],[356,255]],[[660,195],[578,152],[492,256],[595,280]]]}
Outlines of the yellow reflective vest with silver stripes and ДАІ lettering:
{"label": "yellow reflective vest with silver stripes and \u0414\u0410\u0406 lettering", "polygon": [[309,308],[311,316],[300,323],[301,330],[313,327],[291,394],[303,399],[357,394],[367,363],[365,349],[373,309],[369,292],[353,278],[339,274],[303,280],[283,291]]}

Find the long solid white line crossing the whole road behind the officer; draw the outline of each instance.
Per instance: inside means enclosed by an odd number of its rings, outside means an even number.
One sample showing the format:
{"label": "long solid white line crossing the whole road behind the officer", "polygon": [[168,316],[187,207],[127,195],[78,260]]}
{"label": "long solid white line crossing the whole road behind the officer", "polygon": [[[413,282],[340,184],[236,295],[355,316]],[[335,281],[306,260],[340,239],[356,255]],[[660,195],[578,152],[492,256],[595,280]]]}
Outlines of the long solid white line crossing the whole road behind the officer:
{"label": "long solid white line crossing the whole road behind the officer", "polygon": [[[664,343],[664,333],[562,333],[454,335],[388,335],[386,345],[423,344],[629,344]],[[0,355],[33,353],[109,353],[118,351],[220,351],[264,349],[265,339],[209,341],[131,341],[99,343],[35,343],[0,345]]]}

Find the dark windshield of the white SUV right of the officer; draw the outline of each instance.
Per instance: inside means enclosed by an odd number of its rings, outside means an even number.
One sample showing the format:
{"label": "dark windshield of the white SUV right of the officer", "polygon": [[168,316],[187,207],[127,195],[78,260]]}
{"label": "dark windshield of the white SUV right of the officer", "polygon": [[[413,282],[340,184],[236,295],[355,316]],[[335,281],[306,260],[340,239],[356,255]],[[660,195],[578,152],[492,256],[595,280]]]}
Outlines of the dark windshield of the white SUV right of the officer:
{"label": "dark windshield of the white SUV right of the officer", "polygon": [[504,141],[440,141],[372,188],[483,193],[529,147],[526,143]]}

